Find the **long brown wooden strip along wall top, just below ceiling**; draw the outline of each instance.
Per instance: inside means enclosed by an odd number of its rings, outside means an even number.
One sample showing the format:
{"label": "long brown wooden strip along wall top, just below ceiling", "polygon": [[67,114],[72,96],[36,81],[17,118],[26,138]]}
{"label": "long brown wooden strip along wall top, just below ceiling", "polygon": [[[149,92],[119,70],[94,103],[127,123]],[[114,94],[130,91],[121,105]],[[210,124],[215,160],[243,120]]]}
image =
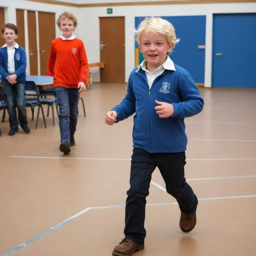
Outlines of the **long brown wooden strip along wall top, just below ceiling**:
{"label": "long brown wooden strip along wall top, just below ceiling", "polygon": [[72,7],[256,2],[256,0],[183,0],[183,1],[173,0],[173,1],[144,1],[144,2],[130,1],[130,2],[105,2],[105,3],[72,3],[72,2],[54,1],[54,0],[28,0],[28,1],[65,5],[65,6],[72,6]]}

